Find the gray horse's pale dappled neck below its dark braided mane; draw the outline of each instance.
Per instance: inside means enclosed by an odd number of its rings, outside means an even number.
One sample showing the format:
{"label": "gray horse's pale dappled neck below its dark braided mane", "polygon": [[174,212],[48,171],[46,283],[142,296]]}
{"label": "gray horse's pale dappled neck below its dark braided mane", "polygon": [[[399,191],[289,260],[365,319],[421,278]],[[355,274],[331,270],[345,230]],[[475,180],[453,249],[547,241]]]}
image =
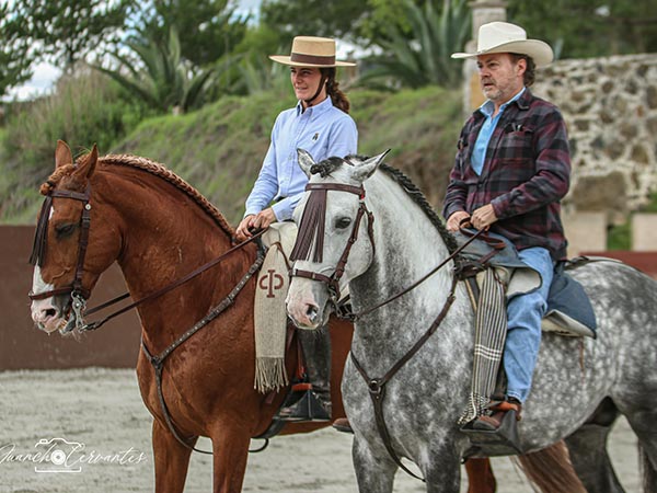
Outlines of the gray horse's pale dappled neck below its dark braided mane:
{"label": "gray horse's pale dappled neck below its dark braided mane", "polygon": [[[374,215],[376,257],[350,284],[356,311],[401,293],[449,256],[427,215],[390,177],[374,180],[379,174],[367,182]],[[410,347],[436,319],[451,279],[450,262],[412,291],[369,314],[367,322],[358,325],[356,346],[362,344],[372,354],[389,354],[389,345]]]}

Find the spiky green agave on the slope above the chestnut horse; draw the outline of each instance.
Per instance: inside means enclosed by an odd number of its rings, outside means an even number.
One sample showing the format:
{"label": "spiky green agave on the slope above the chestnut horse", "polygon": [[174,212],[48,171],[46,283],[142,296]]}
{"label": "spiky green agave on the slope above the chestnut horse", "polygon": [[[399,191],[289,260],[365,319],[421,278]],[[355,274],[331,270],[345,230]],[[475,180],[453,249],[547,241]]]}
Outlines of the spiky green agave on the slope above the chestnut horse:
{"label": "spiky green agave on the slope above the chestnut horse", "polygon": [[112,53],[117,67],[95,66],[112,77],[150,107],[161,112],[185,113],[203,104],[212,70],[195,67],[181,56],[175,28],[162,42],[148,33],[126,43],[128,54]]}

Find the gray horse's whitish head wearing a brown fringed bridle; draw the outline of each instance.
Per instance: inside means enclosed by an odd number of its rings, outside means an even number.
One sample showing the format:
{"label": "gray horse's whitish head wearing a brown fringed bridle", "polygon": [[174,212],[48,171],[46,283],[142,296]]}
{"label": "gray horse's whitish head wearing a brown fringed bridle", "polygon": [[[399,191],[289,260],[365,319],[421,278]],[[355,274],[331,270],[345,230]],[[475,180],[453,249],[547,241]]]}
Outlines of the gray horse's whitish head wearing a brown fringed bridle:
{"label": "gray horse's whitish head wearing a brown fringed bridle", "polygon": [[291,255],[287,309],[300,329],[318,329],[327,322],[341,289],[372,261],[373,218],[366,206],[364,182],[388,151],[369,159],[328,158],[320,163],[304,150],[298,153],[310,182],[295,210],[299,234]]}

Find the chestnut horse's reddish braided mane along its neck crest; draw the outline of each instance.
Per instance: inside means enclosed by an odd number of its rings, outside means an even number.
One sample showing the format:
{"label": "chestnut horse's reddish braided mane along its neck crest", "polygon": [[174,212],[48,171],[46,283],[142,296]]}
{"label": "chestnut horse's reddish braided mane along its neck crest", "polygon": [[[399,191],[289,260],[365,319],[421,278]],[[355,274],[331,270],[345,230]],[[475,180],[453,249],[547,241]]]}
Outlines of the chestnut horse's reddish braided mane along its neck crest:
{"label": "chestnut horse's reddish braided mane along its neck crest", "polygon": [[[76,160],[76,164],[80,165],[83,160],[88,159],[89,154],[82,156]],[[131,154],[107,154],[105,157],[99,158],[97,164],[101,165],[117,165],[117,167],[127,167],[137,170],[145,171],[149,174],[158,176],[168,183],[171,183],[177,190],[183,192],[189,198],[192,198],[208,216],[212,218],[212,220],[228,234],[230,238],[233,237],[234,230],[228,223],[223,215],[215,207],[207,198],[205,198],[196,188],[189,185],[186,181],[175,174],[173,171],[168,169],[164,164],[160,164],[159,162],[151,161],[147,158],[140,158],[138,156]],[[74,168],[72,165],[65,165],[55,170],[55,172],[50,175],[50,177],[42,185],[42,194],[47,194],[49,190],[55,187],[59,181],[72,173]]]}

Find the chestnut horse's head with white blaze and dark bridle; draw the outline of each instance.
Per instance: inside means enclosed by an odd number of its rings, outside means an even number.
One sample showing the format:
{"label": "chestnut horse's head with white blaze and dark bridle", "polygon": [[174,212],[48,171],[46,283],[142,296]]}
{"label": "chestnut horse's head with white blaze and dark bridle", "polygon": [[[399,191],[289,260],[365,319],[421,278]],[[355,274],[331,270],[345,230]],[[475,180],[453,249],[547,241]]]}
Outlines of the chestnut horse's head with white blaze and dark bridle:
{"label": "chestnut horse's head with white blaze and dark bridle", "polygon": [[[101,273],[116,259],[116,240],[100,230],[90,179],[99,158],[91,152],[73,162],[61,140],[55,172],[41,186],[42,207],[30,262],[34,265],[32,320],[48,333],[70,332],[82,325],[82,311]],[[94,223],[95,228],[90,228]],[[67,318],[70,319],[67,322]]]}

